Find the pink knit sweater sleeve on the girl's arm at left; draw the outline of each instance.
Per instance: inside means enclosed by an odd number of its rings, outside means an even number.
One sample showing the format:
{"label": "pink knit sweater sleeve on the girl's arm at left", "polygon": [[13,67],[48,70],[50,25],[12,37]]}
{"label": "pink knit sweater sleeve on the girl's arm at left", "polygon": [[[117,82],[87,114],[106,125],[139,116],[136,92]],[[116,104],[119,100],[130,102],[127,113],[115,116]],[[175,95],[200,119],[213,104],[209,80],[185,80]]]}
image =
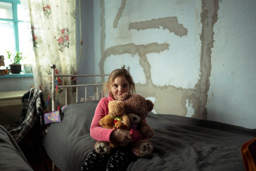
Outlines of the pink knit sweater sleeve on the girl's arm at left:
{"label": "pink knit sweater sleeve on the girl's arm at left", "polygon": [[110,142],[110,135],[113,130],[105,129],[101,127],[99,124],[100,119],[102,119],[107,114],[108,114],[108,98],[104,97],[100,100],[99,104],[96,107],[94,117],[92,119],[92,123],[90,127],[90,135],[94,140]]}

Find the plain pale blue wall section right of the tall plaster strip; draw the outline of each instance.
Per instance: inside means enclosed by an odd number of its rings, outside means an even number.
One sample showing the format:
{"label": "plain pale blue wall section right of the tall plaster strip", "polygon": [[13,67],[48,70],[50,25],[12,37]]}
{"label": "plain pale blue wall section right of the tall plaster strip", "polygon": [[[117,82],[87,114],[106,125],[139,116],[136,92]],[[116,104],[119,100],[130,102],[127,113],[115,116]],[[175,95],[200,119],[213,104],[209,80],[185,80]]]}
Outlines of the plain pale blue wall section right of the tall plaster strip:
{"label": "plain pale blue wall section right of the tall plaster strip", "polygon": [[221,1],[214,25],[208,120],[256,128],[256,1]]}

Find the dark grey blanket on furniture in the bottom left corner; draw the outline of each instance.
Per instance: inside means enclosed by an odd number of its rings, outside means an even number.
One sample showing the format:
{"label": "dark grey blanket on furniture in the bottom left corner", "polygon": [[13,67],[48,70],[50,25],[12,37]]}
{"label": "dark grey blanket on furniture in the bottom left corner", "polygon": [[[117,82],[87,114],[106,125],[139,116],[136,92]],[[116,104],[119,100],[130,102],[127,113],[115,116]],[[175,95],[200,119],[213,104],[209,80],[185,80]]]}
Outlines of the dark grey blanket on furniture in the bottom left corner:
{"label": "dark grey blanket on furniture in the bottom left corner", "polygon": [[33,170],[10,133],[0,125],[0,170]]}

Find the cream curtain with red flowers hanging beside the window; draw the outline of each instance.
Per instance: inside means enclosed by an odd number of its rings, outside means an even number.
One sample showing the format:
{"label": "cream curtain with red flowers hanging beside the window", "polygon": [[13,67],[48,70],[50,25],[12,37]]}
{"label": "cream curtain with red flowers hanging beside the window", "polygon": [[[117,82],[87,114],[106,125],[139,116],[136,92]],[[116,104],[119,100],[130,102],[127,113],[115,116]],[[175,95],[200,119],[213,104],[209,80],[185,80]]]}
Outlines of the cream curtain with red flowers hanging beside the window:
{"label": "cream curtain with red flowers hanging beside the window", "polygon": [[[76,0],[28,0],[28,6],[36,63],[33,67],[35,87],[42,90],[47,100],[51,79],[55,79],[51,78],[51,64],[56,65],[56,75],[76,74]],[[76,84],[76,79],[57,77],[57,84]],[[67,90],[68,103],[74,102],[76,89]],[[62,88],[58,88],[58,99],[60,107],[64,106]]]}

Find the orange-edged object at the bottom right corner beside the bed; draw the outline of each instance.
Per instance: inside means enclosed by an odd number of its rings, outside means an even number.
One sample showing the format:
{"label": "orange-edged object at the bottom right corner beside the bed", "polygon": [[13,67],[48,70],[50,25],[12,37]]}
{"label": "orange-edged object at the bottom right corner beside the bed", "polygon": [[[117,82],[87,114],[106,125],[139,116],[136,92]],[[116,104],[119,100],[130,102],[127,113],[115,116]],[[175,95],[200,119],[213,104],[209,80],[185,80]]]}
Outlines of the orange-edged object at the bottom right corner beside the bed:
{"label": "orange-edged object at the bottom right corner beside the bed", "polygon": [[243,164],[246,171],[256,170],[256,137],[243,143],[241,146],[241,153]]}

